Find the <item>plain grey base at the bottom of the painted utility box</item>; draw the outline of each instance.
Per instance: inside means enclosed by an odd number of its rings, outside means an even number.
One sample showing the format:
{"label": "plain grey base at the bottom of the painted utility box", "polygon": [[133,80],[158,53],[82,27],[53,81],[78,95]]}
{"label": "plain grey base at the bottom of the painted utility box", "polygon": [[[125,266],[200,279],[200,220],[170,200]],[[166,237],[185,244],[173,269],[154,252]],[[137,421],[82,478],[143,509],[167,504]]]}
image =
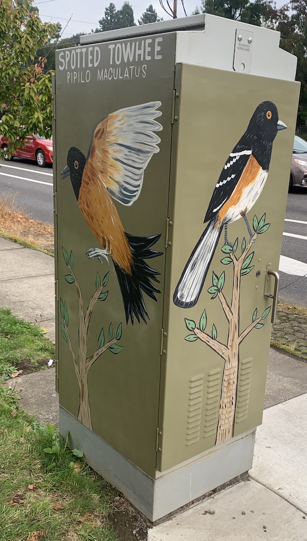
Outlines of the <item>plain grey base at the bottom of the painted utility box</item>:
{"label": "plain grey base at the bottom of the painted utility box", "polygon": [[240,434],[230,443],[214,447],[172,469],[157,471],[155,479],[62,407],[60,432],[63,437],[69,432],[70,444],[83,451],[89,466],[155,522],[248,471],[252,466],[256,430]]}

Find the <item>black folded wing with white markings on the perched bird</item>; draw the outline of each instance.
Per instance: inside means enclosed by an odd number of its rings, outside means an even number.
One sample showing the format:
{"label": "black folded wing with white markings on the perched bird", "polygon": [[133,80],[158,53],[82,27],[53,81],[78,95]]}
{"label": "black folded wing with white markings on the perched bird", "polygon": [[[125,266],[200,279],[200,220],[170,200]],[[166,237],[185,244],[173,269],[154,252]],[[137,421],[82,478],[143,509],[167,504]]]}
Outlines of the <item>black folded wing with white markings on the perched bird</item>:
{"label": "black folded wing with white markings on the perched bird", "polygon": [[214,219],[219,209],[231,197],[250,156],[251,147],[244,143],[242,137],[225,162],[219,180],[215,185],[204,222]]}

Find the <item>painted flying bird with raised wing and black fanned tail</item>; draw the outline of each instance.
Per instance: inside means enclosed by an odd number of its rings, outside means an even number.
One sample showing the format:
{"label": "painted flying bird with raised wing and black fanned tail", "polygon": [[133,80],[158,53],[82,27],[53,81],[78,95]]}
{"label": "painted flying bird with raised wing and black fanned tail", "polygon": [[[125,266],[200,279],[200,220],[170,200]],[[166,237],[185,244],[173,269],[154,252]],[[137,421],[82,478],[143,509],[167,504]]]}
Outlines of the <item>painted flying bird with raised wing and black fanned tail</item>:
{"label": "painted flying bird with raised wing and black fanned tail", "polygon": [[155,258],[162,252],[151,247],[161,234],[134,236],[125,233],[115,199],[130,206],[138,199],[144,170],[153,154],[159,152],[160,137],[155,131],[162,126],[155,118],[161,115],[157,109],[161,102],[134,105],[115,111],[103,118],[95,127],[87,157],[71,147],[67,167],[62,178],[70,176],[80,210],[100,248],[87,251],[89,259],[108,261],[112,258],[126,321],[133,318],[140,322],[149,319],[143,293],[156,300],[159,289],[152,281],[159,282],[160,274],[149,267],[145,259]]}

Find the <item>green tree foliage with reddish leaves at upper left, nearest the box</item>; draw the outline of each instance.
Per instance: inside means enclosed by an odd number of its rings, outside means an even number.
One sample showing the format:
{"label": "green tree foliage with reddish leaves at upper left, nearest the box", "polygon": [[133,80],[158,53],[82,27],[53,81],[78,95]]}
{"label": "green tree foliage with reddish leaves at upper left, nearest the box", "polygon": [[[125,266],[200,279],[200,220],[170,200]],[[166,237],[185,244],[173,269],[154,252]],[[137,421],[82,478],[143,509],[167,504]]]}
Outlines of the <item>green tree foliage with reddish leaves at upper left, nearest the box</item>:
{"label": "green tree foliage with reddish leaves at upper left, nearest the box", "polygon": [[47,135],[51,128],[51,74],[42,72],[44,57],[34,59],[56,26],[43,23],[31,3],[0,2],[0,133],[12,148],[17,137],[32,132]]}

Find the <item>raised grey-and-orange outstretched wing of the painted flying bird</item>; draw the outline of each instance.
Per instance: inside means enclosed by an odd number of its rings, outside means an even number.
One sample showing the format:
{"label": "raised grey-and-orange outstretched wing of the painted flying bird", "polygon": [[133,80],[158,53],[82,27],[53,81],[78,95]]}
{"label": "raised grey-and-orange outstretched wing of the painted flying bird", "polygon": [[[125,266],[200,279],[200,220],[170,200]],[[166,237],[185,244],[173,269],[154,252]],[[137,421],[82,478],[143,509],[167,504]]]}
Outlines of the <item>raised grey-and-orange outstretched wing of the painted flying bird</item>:
{"label": "raised grey-and-orange outstretched wing of the painted flying bird", "polygon": [[159,152],[162,126],[155,120],[161,102],[149,102],[120,109],[97,124],[90,144],[90,161],[109,194],[130,206],[138,199],[144,170]]}

